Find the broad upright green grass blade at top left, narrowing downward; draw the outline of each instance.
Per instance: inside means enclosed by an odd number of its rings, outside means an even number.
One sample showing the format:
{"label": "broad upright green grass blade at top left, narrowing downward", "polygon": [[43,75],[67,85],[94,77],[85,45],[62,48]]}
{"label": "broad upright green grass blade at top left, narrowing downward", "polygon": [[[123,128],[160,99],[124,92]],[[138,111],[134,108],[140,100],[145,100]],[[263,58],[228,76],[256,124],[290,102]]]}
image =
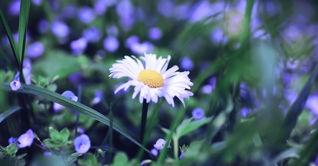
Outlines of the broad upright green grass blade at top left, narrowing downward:
{"label": "broad upright green grass blade at top left, narrowing downward", "polygon": [[26,39],[26,29],[30,10],[30,0],[23,0],[20,4],[20,15],[19,15],[19,54],[18,62],[20,66],[20,71],[22,71],[22,63],[24,58],[25,49],[25,39]]}

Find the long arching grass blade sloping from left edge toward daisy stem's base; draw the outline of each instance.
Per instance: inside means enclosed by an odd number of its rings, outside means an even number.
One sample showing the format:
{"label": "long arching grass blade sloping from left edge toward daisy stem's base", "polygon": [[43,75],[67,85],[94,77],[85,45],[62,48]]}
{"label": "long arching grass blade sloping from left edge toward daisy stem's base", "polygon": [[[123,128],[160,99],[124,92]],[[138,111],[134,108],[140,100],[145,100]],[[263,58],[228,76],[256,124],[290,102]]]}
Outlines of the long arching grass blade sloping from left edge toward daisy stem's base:
{"label": "long arching grass blade sloping from left edge toward daisy stem's base", "polygon": [[[9,83],[0,84],[0,88],[8,90],[8,91],[12,91]],[[79,102],[73,101],[69,98],[66,98],[60,94],[49,91],[47,89],[40,88],[40,87],[33,86],[33,85],[22,84],[22,89],[17,90],[15,92],[37,95],[39,97],[42,97],[42,98],[45,98],[47,100],[61,104],[63,106],[69,107],[78,113],[81,113],[87,117],[90,117],[94,120],[100,121],[100,122],[110,126],[110,120],[107,117],[105,117],[103,114],[97,112],[96,110],[94,110],[86,105],[83,105]],[[139,147],[143,148],[147,153],[149,153],[152,156],[152,153],[149,150],[147,150],[144,146],[142,146],[138,141],[136,141],[131,135],[129,135],[128,133],[123,131],[120,127],[118,127],[118,125],[116,123],[112,123],[112,124],[113,124],[112,128],[114,130],[116,130],[117,132],[119,132],[120,134],[125,136],[127,139],[131,140],[133,143],[135,143]]]}

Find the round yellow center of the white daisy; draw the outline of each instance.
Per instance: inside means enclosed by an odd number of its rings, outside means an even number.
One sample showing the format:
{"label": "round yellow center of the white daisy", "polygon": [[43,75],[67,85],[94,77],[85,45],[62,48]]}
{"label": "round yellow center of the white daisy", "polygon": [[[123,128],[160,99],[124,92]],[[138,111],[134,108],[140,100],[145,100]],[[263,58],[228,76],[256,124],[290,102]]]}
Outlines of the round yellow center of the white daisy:
{"label": "round yellow center of the white daisy", "polygon": [[164,86],[164,77],[154,70],[142,70],[138,74],[138,80],[150,88],[159,88]]}

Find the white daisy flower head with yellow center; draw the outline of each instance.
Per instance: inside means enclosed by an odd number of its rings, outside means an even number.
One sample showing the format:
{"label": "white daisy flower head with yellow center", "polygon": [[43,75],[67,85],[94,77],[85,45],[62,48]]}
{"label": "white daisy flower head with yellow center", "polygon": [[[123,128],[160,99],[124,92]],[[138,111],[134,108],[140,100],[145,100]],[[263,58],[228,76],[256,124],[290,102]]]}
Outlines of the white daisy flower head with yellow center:
{"label": "white daisy flower head with yellow center", "polygon": [[173,98],[176,96],[185,106],[183,99],[189,99],[189,96],[193,96],[193,93],[187,91],[193,83],[188,77],[189,71],[179,72],[178,66],[168,68],[168,63],[171,59],[159,57],[156,58],[155,54],[145,53],[144,57],[140,57],[145,63],[137,59],[135,56],[125,56],[122,61],[116,61],[113,67],[110,68],[111,74],[109,77],[131,78],[128,82],[120,85],[116,90],[124,89],[125,91],[134,86],[135,91],[133,93],[133,99],[139,94],[139,102],[142,103],[143,99],[149,103],[150,100],[157,103],[158,97],[165,97],[167,102],[174,107]]}

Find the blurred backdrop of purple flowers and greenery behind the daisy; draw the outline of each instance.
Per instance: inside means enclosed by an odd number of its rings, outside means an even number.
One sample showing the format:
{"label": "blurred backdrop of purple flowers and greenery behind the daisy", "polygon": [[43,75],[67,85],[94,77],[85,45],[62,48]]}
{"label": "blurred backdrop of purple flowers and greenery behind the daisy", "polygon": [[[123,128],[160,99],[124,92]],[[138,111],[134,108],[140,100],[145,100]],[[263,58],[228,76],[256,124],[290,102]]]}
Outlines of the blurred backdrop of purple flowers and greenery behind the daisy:
{"label": "blurred backdrop of purple flowers and greenery behind the daisy", "polygon": [[[247,2],[252,8],[246,7]],[[166,58],[170,54],[169,67],[178,65],[180,71],[190,71],[194,82],[190,91],[195,95],[186,102],[184,118],[191,117],[192,110],[198,107],[205,110],[206,116],[224,113],[226,117],[211,143],[227,140],[232,132],[233,137],[238,136],[235,131],[244,132],[236,130],[240,122],[256,115],[262,117],[259,126],[250,127],[260,127],[261,137],[272,140],[278,134],[273,128],[282,123],[318,61],[317,8],[316,1],[302,0],[32,0],[24,66],[31,66],[31,73],[38,80],[58,76],[55,83],[59,94],[67,90],[78,93],[80,87],[80,102],[106,116],[112,103],[114,122],[138,137],[142,104],[131,98],[133,88],[114,94],[126,79],[109,79],[109,68],[125,55],[139,57],[146,52]],[[20,1],[2,0],[0,9],[17,42]],[[8,62],[0,58],[0,69],[11,71],[13,80],[18,68],[4,26],[0,26],[0,38],[1,51],[8,58]],[[308,99],[303,99],[304,108],[300,109],[304,111],[296,116],[298,123],[291,135],[295,144],[305,144],[317,124],[318,93],[316,83],[313,85]],[[9,98],[6,107],[18,102],[11,100],[14,94],[4,97]],[[6,119],[0,130],[0,145],[7,145],[10,136],[19,135],[28,127],[33,127],[40,137],[47,136],[43,125],[74,129],[74,112],[55,113],[52,103],[44,108],[38,98],[31,99],[35,120],[29,126],[20,126],[20,120],[11,123],[14,118],[21,119],[19,115]],[[229,101],[232,109],[227,112],[224,110]],[[160,127],[169,128],[183,106],[177,99],[175,102],[176,107],[164,99],[150,103],[148,119],[156,118],[152,119],[146,148],[151,149],[158,138],[165,136]],[[80,116],[79,123],[90,135],[93,146],[103,143],[107,126],[85,116]],[[180,146],[204,139],[209,130],[204,126],[182,137]],[[239,136],[244,140],[244,136]],[[114,148],[130,158],[136,157],[138,151],[138,146],[117,132]],[[231,149],[244,154],[227,161],[247,164],[248,148]],[[312,162],[315,155],[310,156]]]}

